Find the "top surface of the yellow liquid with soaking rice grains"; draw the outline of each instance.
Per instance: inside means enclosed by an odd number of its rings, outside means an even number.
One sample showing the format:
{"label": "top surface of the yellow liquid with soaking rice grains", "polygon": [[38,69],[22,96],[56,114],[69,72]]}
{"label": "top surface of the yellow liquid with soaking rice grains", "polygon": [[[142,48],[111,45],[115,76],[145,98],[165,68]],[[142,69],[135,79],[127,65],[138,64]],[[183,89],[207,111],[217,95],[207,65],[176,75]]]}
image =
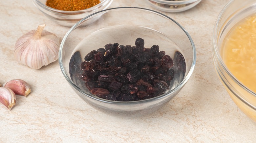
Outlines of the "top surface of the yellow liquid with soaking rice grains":
{"label": "top surface of the yellow liquid with soaking rice grains", "polygon": [[224,42],[224,62],[231,73],[256,92],[256,16],[235,26]]}

